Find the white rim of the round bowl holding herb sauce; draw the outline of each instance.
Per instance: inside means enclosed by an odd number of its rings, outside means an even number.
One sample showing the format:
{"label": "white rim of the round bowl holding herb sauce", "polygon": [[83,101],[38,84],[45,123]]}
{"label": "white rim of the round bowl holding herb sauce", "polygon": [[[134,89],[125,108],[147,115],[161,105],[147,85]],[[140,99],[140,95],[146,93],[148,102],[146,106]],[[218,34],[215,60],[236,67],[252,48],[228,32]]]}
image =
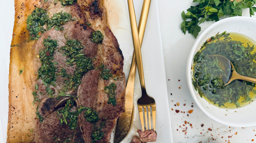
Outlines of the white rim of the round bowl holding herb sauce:
{"label": "white rim of the round bowl holding herb sauce", "polygon": [[[196,53],[196,49],[199,45],[199,43],[201,42],[201,40],[203,39],[203,37],[210,31],[213,29],[213,27],[216,27],[218,25],[221,25],[223,23],[229,22],[229,21],[236,21],[236,20],[240,20],[240,21],[254,21],[256,22],[255,18],[252,17],[245,17],[245,16],[237,16],[237,17],[228,17],[228,18],[224,18],[220,21],[217,21],[213,24],[211,24],[209,27],[207,27],[202,34],[200,34],[200,36],[196,39],[194,45],[192,46],[188,59],[187,59],[187,65],[186,65],[186,77],[187,77],[187,84],[188,84],[188,88],[189,88],[189,92],[194,100],[194,102],[197,104],[197,106],[201,109],[201,111],[203,111],[203,113],[208,116],[210,119],[221,123],[223,125],[227,125],[227,126],[232,126],[232,127],[250,127],[250,126],[256,126],[256,121],[254,122],[243,122],[243,123],[239,123],[239,124],[235,124],[235,123],[230,123],[227,121],[224,121],[222,119],[219,119],[218,117],[213,116],[212,114],[210,114],[204,107],[203,105],[199,102],[199,100],[197,99],[197,95],[194,93],[194,86],[192,85],[192,74],[191,74],[191,65],[192,65],[192,61],[193,61],[193,57]],[[220,108],[220,107],[219,107]],[[224,108],[223,108],[224,109]],[[231,110],[231,109],[229,109]]]}

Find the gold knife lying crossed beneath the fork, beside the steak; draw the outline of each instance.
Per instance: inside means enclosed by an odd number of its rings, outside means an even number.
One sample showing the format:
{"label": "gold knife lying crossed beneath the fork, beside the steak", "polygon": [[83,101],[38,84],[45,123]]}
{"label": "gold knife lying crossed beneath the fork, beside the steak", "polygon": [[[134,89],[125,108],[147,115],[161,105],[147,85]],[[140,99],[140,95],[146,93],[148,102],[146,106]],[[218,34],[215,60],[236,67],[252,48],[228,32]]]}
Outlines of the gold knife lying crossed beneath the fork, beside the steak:
{"label": "gold knife lying crossed beneath the fork, beside the steak", "polygon": [[[139,18],[139,42],[140,47],[142,45],[145,28],[148,19],[148,11],[150,7],[151,0],[144,0],[141,14]],[[121,114],[117,122],[117,128],[114,137],[114,143],[119,143],[123,140],[123,138],[127,135],[131,120],[132,120],[132,113],[133,113],[133,93],[134,93],[134,82],[135,82],[135,75],[136,75],[136,60],[135,60],[135,53],[133,52],[132,64],[130,73],[128,76],[126,90],[125,90],[125,112]]]}

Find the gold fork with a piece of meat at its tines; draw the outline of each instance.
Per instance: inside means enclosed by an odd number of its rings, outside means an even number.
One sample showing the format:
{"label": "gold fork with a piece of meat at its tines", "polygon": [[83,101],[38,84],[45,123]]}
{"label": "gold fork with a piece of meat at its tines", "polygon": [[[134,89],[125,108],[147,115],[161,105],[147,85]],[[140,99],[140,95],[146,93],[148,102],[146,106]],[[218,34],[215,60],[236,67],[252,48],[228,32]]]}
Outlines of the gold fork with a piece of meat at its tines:
{"label": "gold fork with a piece of meat at its tines", "polygon": [[136,57],[136,62],[137,62],[137,67],[139,72],[139,80],[140,80],[141,93],[142,93],[141,97],[137,101],[141,127],[142,127],[142,131],[150,130],[150,129],[156,130],[156,102],[154,98],[148,96],[146,92],[142,57],[141,57],[140,43],[139,43],[139,34],[138,34],[133,0],[127,0],[127,1],[128,1],[131,29],[132,29],[133,45],[134,45],[134,51],[135,51],[135,57]]}

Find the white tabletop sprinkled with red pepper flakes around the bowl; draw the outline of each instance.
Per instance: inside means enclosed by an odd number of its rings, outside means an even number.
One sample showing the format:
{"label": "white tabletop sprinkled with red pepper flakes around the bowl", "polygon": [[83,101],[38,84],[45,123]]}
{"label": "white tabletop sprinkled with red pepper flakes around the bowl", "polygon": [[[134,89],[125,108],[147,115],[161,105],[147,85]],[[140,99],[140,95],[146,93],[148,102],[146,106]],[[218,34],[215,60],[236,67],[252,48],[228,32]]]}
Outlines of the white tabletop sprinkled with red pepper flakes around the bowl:
{"label": "white tabletop sprinkled with red pepper flakes around the bowl", "polygon": [[[256,142],[255,126],[237,128],[217,123],[199,109],[190,95],[186,81],[186,63],[196,39],[191,34],[184,35],[180,30],[180,24],[181,12],[186,12],[191,5],[195,5],[192,0],[158,0],[173,142]],[[243,16],[249,16],[249,11],[245,10]],[[212,23],[201,24],[199,34]],[[175,110],[180,112],[176,113]],[[193,112],[189,114],[189,110]]]}

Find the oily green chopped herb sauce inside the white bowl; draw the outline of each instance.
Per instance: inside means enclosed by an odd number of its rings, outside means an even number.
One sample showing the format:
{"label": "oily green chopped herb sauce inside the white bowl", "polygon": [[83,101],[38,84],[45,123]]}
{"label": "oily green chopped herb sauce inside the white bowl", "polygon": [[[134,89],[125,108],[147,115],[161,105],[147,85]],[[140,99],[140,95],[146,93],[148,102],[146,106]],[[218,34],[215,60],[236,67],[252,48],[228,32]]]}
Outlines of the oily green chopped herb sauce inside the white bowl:
{"label": "oily green chopped herb sauce inside the white bowl", "polygon": [[223,108],[244,106],[255,98],[255,84],[235,80],[227,86],[230,67],[209,55],[229,59],[237,73],[256,78],[256,43],[237,33],[222,33],[206,40],[193,58],[193,86],[201,97]]}

